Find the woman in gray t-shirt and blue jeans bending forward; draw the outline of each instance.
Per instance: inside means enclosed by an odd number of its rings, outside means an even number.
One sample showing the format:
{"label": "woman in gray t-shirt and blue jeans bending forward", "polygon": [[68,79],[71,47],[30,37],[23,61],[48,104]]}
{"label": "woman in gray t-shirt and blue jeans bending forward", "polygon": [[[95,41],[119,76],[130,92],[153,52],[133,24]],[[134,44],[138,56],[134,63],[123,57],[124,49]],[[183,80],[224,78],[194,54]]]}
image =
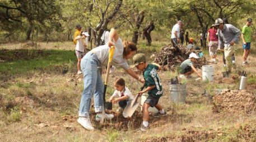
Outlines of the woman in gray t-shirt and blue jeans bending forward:
{"label": "woman in gray t-shirt and blue jeans bending forward", "polygon": [[101,112],[104,112],[104,84],[101,79],[99,69],[97,68],[108,65],[109,50],[111,46],[115,47],[111,63],[123,68],[125,72],[138,81],[142,83],[145,82],[144,79],[140,78],[131,68],[129,68],[127,63],[127,59],[132,58],[136,53],[136,45],[133,42],[122,42],[117,31],[115,31],[115,29],[111,29],[108,45],[92,49],[81,60],[84,87],[77,122],[87,130],[94,130],[89,118],[92,96],[94,96],[94,107],[95,112],[97,113],[96,121],[100,121],[102,118],[111,120],[114,117],[114,115],[106,113],[101,114]]}

